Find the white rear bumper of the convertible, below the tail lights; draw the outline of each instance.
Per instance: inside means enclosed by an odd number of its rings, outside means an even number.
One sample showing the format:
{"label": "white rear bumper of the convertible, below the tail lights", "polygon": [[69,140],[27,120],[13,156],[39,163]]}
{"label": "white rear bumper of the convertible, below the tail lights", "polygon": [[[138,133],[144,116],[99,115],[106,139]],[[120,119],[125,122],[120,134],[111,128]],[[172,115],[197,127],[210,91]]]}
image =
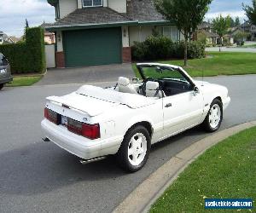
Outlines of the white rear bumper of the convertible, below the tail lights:
{"label": "white rear bumper of the convertible, below the tail lights", "polygon": [[63,126],[56,126],[47,119],[42,121],[41,126],[44,135],[49,138],[49,141],[54,142],[67,152],[84,159],[117,153],[122,141],[122,138],[119,137],[108,140],[90,140],[67,131]]}

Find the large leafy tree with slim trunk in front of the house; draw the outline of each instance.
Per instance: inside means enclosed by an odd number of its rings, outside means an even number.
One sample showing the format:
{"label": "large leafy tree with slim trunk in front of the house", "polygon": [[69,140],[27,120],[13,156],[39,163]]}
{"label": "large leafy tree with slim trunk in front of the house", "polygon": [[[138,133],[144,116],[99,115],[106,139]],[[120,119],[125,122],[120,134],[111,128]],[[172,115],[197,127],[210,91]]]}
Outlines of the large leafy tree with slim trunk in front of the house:
{"label": "large leafy tree with slim trunk in front of the house", "polygon": [[201,24],[212,0],[154,0],[157,11],[174,22],[184,35],[184,66],[188,65],[188,40]]}

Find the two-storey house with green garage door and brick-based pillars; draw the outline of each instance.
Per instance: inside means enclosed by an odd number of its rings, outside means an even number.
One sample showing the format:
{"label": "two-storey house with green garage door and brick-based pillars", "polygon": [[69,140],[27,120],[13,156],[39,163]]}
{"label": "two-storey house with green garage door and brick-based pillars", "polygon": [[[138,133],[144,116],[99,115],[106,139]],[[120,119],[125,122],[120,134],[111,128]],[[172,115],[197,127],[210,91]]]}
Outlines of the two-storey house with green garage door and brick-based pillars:
{"label": "two-storey house with green garage door and brick-based pillars", "polygon": [[154,9],[153,0],[48,0],[56,22],[56,66],[131,62],[131,46],[157,30],[173,41],[181,33]]}

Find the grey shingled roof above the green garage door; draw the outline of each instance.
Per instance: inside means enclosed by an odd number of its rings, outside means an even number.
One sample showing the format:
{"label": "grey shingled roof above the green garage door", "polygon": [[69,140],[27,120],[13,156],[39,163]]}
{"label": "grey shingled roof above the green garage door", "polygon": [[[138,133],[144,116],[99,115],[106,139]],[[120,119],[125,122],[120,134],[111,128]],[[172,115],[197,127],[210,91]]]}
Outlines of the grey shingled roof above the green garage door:
{"label": "grey shingled roof above the green garage door", "polygon": [[46,30],[59,28],[91,28],[99,26],[139,25],[150,22],[165,22],[163,16],[154,9],[153,0],[127,1],[127,13],[118,13],[108,7],[76,9]]}

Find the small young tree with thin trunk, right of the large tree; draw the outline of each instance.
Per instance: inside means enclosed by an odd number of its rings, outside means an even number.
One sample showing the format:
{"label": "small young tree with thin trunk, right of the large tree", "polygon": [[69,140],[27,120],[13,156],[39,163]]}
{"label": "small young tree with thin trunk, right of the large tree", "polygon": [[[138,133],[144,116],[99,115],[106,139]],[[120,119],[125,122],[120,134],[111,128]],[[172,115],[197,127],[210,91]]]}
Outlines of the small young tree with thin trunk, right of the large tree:
{"label": "small young tree with thin trunk, right of the large tree", "polygon": [[[227,17],[223,17],[221,14],[212,20],[213,29],[217,32],[218,37],[220,39],[220,44],[223,43],[223,37],[228,32],[230,27],[230,15]],[[219,47],[220,51],[220,47]]]}

